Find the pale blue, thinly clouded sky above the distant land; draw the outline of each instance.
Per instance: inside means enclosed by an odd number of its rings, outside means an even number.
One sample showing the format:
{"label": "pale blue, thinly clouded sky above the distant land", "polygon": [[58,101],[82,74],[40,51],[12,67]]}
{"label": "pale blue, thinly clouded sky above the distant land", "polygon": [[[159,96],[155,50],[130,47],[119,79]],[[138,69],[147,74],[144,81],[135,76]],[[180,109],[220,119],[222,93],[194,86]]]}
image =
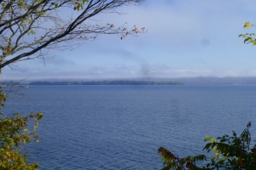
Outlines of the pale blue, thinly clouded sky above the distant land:
{"label": "pale blue, thinly clouded sky above the distant land", "polygon": [[126,14],[96,16],[102,23],[146,27],[124,40],[102,35],[73,51],[3,68],[2,80],[256,77],[256,47],[244,44],[246,21],[256,23],[253,0],[145,0],[119,8]]}

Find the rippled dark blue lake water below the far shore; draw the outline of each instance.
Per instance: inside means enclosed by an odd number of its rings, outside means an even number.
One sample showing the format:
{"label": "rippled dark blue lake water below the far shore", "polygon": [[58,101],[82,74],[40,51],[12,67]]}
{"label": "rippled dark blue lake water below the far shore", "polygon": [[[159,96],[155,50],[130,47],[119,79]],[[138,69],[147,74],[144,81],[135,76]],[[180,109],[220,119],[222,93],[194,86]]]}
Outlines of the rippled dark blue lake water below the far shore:
{"label": "rippled dark blue lake water below the far shore", "polygon": [[4,112],[41,111],[40,169],[160,169],[157,150],[204,153],[205,135],[256,133],[255,85],[32,86]]}

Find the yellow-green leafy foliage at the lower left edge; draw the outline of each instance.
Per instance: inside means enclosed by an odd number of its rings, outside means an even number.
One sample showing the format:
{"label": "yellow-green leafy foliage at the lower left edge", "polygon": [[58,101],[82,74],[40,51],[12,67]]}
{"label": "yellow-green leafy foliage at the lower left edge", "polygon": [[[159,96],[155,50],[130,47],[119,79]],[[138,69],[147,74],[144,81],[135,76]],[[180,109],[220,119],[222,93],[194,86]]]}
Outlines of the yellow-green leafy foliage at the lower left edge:
{"label": "yellow-green leafy foliage at the lower left edge", "polygon": [[[6,99],[6,95],[0,91],[1,107],[4,107]],[[39,112],[29,116],[21,116],[20,113],[16,113],[12,117],[3,117],[3,115],[0,117],[0,169],[38,169],[38,163],[27,161],[27,155],[23,148],[32,140],[38,142],[37,127],[43,116]],[[27,128],[30,121],[34,122],[32,130]]]}

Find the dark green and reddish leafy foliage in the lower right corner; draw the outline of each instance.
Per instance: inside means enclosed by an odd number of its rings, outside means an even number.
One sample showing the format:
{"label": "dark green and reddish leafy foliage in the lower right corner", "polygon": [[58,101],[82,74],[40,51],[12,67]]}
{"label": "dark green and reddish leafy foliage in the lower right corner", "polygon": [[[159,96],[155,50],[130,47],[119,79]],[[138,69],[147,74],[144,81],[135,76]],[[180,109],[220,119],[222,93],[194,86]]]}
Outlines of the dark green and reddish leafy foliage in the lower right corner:
{"label": "dark green and reddish leafy foliage in the lower right corner", "polygon": [[[187,156],[178,158],[171,151],[160,147],[158,152],[162,156],[165,167],[163,170],[212,170],[212,169],[239,169],[239,170],[255,170],[256,169],[256,144],[253,147],[251,144],[251,133],[249,128],[251,122],[248,122],[247,127],[238,137],[233,131],[232,136],[224,134],[223,137],[213,139],[206,136],[205,141],[208,143],[203,150],[207,152],[213,151],[214,155],[210,161],[207,161],[207,156]],[[205,166],[197,166],[199,161],[205,162]],[[202,165],[202,163],[200,164]]]}

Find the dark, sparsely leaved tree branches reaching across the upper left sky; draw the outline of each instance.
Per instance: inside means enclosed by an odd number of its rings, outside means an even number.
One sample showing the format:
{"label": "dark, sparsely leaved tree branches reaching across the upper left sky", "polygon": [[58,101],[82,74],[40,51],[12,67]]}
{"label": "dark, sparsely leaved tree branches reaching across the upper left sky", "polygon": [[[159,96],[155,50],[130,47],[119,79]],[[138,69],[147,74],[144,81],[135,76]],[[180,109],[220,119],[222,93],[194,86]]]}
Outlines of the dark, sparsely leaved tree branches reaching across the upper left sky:
{"label": "dark, sparsely leaved tree branches reaching across the upper left sky", "polygon": [[[138,33],[145,32],[145,28],[138,29],[136,26],[128,29],[126,25],[115,27],[109,23],[89,24],[98,14],[120,14],[116,11],[117,8],[137,5],[143,0],[90,0],[89,3],[83,3],[82,0],[0,2],[3,4],[0,9],[0,69],[22,60],[44,59],[44,54],[48,54],[50,49],[73,49],[81,45],[80,42],[94,40],[101,34],[115,34],[123,39],[128,35],[137,36]],[[72,8],[81,10],[74,19],[59,14],[61,9]],[[35,37],[32,38],[31,35]]]}

